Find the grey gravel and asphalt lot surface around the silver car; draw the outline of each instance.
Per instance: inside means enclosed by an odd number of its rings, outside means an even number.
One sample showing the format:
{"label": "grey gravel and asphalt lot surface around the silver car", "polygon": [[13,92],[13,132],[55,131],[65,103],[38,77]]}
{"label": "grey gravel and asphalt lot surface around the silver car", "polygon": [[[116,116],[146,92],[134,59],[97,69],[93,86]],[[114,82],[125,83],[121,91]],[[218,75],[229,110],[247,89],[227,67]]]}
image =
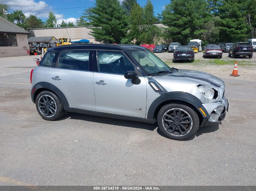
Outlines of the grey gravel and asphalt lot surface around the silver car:
{"label": "grey gravel and asphalt lot surface around the silver car", "polygon": [[[255,185],[255,58],[228,65],[196,54],[175,68],[209,72],[226,84],[230,112],[189,141],[165,138],[157,124],[69,113],[43,120],[30,98],[33,56],[0,58],[0,185]],[[39,56],[37,56],[39,57]],[[213,59],[212,59],[213,60]]]}

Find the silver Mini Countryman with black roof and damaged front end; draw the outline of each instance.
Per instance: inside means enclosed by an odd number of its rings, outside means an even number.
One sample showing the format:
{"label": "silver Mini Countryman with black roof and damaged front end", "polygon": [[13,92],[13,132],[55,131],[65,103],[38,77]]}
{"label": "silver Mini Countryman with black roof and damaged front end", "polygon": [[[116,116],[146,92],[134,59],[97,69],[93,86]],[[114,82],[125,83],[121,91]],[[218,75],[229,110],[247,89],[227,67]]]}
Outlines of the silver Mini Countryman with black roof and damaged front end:
{"label": "silver Mini Countryman with black roof and damaged front end", "polygon": [[224,119],[224,82],[208,73],[171,68],[134,45],[65,45],[50,49],[31,71],[31,98],[40,116],[66,112],[158,123],[185,140]]}

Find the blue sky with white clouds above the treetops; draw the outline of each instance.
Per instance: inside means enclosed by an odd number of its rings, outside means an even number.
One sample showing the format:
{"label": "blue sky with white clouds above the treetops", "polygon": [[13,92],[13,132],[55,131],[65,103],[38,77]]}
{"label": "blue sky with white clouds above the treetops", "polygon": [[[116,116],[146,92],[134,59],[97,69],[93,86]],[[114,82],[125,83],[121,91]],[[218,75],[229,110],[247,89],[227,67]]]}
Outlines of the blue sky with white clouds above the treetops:
{"label": "blue sky with white clouds above the treetops", "polygon": [[[65,22],[75,23],[76,19],[82,15],[84,9],[86,8],[41,11],[37,11],[37,9],[58,9],[93,6],[95,0],[0,0],[0,2],[8,5],[11,9],[11,12],[14,10],[22,10],[26,16],[34,14],[38,18],[41,18],[43,21],[47,19],[49,12],[52,11],[56,16],[57,23],[61,23],[63,20]],[[141,6],[144,6],[146,4],[146,0],[137,0],[137,2]],[[166,4],[170,3],[170,0],[151,0],[151,2],[154,5],[154,11],[157,15],[157,13],[161,13]]]}

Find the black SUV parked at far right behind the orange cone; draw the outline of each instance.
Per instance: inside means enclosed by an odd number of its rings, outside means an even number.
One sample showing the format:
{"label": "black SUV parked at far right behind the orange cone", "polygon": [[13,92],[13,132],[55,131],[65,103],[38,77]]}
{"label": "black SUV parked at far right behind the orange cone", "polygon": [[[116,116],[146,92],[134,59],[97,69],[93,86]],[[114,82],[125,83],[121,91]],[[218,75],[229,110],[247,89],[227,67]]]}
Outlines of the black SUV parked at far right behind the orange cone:
{"label": "black SUV parked at far right behind the orange cone", "polygon": [[249,56],[252,58],[253,47],[251,43],[234,43],[229,49],[228,56],[235,58],[236,56]]}

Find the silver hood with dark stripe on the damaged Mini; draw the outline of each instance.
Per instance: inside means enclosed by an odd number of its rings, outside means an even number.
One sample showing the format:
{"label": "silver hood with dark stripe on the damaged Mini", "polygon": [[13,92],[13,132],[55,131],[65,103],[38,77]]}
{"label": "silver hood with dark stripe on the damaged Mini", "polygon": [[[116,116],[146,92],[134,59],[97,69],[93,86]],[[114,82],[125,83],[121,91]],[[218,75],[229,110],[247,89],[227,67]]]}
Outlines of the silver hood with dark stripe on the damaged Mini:
{"label": "silver hood with dark stripe on the damaged Mini", "polygon": [[198,83],[203,83],[205,85],[225,88],[225,84],[220,78],[208,74],[207,72],[200,72],[196,70],[179,69],[178,72],[172,73],[170,75],[156,77],[155,80],[161,84],[161,82],[166,82],[166,80],[173,78],[181,78],[182,80],[187,79]]}

